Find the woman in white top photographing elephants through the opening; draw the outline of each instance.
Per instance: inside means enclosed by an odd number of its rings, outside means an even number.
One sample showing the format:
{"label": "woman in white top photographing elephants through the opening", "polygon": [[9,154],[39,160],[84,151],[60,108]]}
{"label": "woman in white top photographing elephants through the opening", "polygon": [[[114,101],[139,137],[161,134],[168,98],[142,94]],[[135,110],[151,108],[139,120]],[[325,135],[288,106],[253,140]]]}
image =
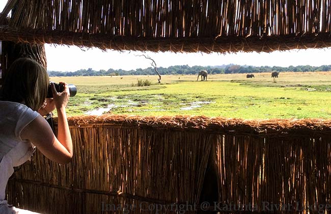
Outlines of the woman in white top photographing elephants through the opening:
{"label": "woman in white top photographing elephants through the opening", "polygon": [[[5,190],[13,167],[31,158],[33,147],[54,162],[67,164],[72,158],[72,141],[66,116],[69,88],[47,98],[49,77],[44,67],[29,58],[13,62],[0,90],[0,214],[35,213],[7,203]],[[42,117],[57,109],[58,138]]]}

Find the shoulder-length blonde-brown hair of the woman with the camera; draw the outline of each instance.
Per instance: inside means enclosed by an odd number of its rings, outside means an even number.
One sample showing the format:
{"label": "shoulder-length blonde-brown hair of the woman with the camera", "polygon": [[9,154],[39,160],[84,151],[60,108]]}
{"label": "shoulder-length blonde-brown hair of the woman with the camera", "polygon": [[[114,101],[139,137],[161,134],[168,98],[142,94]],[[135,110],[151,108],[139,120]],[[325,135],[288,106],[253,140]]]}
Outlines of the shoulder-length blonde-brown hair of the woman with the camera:
{"label": "shoulder-length blonde-brown hair of the woman with the camera", "polygon": [[42,65],[30,58],[19,58],[7,71],[0,99],[24,103],[37,111],[46,99],[48,85],[49,77]]}

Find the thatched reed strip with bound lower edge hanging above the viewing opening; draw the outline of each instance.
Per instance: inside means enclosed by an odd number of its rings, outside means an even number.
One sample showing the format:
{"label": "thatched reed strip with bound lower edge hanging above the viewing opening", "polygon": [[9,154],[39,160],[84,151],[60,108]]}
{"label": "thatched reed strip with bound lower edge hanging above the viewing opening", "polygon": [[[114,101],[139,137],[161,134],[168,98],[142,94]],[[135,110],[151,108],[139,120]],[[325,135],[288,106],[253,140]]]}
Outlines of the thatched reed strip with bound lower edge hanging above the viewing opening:
{"label": "thatched reed strip with bound lower edge hanging above the viewing opening", "polygon": [[0,40],[174,52],[331,46],[326,0],[10,0],[0,18],[12,8]]}

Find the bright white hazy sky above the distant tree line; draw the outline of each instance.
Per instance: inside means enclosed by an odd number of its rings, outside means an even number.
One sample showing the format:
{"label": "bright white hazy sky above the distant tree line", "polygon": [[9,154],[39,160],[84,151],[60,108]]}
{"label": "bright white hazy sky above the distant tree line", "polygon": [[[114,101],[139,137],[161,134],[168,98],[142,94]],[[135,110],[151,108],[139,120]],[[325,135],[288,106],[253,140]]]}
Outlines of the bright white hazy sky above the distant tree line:
{"label": "bright white hazy sky above the distant tree line", "polygon": [[[6,0],[0,0],[0,11],[6,4]],[[274,51],[271,53],[172,53],[172,52],[138,52],[138,51],[114,51],[103,52],[98,48],[80,49],[76,46],[46,44],[47,69],[56,71],[76,71],[92,68],[94,70],[147,68],[151,61],[136,55],[145,54],[156,62],[158,67],[172,65],[253,65],[253,66],[283,66],[290,65],[329,65],[331,61],[330,48],[307,49],[291,51]]]}

